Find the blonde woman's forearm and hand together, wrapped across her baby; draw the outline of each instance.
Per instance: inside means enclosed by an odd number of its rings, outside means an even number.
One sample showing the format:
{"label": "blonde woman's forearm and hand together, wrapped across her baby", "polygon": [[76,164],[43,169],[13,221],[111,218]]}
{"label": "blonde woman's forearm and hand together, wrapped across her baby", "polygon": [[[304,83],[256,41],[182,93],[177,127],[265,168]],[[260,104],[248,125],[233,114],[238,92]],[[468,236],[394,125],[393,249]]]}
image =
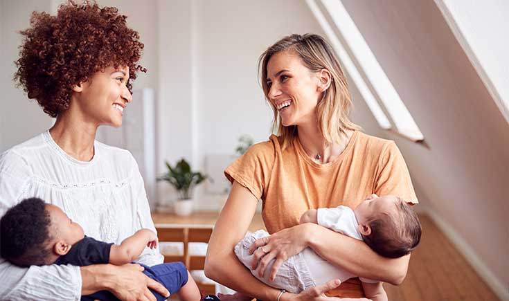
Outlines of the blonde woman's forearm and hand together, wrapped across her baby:
{"label": "blonde woman's forearm and hand together, wrapped across her baby", "polygon": [[[260,246],[265,246],[265,250]],[[398,259],[385,258],[363,241],[312,223],[280,230],[269,239],[256,239],[249,247],[249,251],[253,252],[252,267],[257,268],[260,264],[260,271],[265,271],[271,259],[275,258],[269,271],[269,279],[274,280],[281,264],[306,247],[312,248],[331,264],[360,277],[398,285],[407,275],[410,255]]]}

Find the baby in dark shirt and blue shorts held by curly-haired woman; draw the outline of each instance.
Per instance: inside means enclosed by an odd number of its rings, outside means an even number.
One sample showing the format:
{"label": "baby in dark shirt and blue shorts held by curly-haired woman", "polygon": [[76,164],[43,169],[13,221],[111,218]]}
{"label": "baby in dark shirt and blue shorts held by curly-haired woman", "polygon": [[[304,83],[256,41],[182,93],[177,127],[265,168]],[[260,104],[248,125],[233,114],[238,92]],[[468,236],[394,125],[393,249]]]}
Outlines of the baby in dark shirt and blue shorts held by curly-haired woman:
{"label": "baby in dark shirt and blue shorts held by curly-haired woman", "polygon": [[[0,219],[1,257],[17,266],[49,264],[128,264],[138,258],[145,246],[155,248],[157,235],[148,229],[138,230],[122,244],[108,244],[84,235],[57,206],[42,199],[24,199]],[[145,266],[145,275],[163,284],[181,300],[200,299],[198,287],[181,262]],[[152,290],[151,290],[152,291]],[[157,300],[166,297],[152,291]],[[82,296],[82,300],[118,300],[109,291]]]}

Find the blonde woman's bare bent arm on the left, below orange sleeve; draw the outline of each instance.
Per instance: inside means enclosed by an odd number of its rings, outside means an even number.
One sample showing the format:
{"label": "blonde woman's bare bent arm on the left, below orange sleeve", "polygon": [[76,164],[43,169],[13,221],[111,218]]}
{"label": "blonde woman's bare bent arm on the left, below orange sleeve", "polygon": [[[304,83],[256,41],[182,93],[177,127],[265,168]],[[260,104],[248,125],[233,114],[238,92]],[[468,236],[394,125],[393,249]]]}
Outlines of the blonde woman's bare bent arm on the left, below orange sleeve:
{"label": "blonde woman's bare bent arm on the left, below orange sleeve", "polygon": [[276,300],[279,290],[258,281],[233,253],[251,224],[258,200],[247,188],[233,183],[228,201],[208,242],[205,275],[235,291],[261,300]]}

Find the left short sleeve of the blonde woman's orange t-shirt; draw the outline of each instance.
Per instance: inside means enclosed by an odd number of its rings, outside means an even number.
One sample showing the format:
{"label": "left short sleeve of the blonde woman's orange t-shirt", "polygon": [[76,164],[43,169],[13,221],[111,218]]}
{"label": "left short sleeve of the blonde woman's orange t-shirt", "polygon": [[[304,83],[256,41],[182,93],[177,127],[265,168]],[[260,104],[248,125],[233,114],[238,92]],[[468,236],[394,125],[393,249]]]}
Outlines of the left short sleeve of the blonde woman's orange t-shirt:
{"label": "left short sleeve of the blonde woman's orange t-shirt", "polygon": [[272,167],[274,167],[274,160],[274,143],[272,141],[258,143],[226,167],[224,175],[231,183],[237,181],[249,189],[257,199],[262,199],[263,192],[269,183]]}

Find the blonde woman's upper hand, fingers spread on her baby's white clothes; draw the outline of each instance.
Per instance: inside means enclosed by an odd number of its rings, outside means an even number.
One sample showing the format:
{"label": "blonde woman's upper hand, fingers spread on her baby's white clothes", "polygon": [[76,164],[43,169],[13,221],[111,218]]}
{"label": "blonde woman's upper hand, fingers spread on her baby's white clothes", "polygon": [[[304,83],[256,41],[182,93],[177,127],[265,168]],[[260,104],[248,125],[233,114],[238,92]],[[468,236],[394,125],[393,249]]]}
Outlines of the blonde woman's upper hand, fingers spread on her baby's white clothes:
{"label": "blonde woman's upper hand, fingers spread on her baby's white clothes", "polygon": [[263,277],[269,262],[276,259],[269,274],[269,280],[274,281],[281,264],[307,247],[308,235],[309,226],[302,224],[280,230],[269,237],[256,239],[249,247],[249,254],[253,254],[251,267],[255,269],[258,266],[258,273]]}

